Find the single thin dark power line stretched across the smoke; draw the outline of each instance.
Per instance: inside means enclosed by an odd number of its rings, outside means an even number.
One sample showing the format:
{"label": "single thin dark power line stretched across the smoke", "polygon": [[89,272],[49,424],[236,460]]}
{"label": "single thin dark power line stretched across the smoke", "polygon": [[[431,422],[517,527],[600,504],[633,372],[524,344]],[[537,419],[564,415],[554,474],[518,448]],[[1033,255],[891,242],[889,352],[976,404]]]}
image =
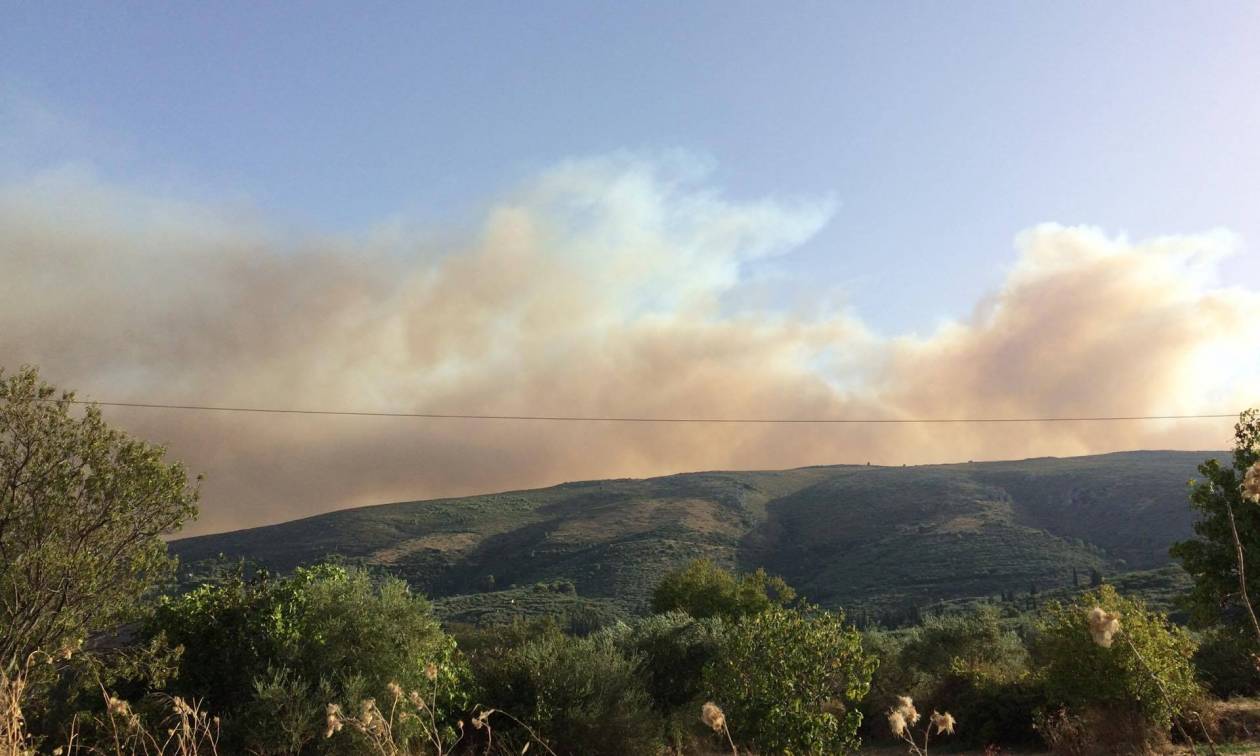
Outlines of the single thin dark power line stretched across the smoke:
{"label": "single thin dark power line stretched across the smoke", "polygon": [[[55,401],[55,399],[49,399]],[[999,422],[1121,422],[1147,420],[1222,420],[1223,415],[1111,415],[1077,417],[592,417],[575,415],[467,415],[455,412],[362,412],[348,410],[285,410],[276,407],[222,407],[210,404],[163,404],[156,402],[92,402],[72,399],[72,404],[131,407],[141,410],[183,410],[193,412],[246,412],[260,415],[321,415],[338,417],[411,417],[420,420],[500,420],[534,422],[668,422],[668,423],[748,423],[748,425],[929,425]]]}

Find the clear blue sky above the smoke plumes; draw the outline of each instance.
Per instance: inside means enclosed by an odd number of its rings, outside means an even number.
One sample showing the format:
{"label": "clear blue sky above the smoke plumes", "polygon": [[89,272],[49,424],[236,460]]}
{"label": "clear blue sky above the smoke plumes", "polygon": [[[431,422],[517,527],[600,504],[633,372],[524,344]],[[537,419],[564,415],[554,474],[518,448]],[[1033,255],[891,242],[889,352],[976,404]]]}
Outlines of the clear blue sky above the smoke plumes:
{"label": "clear blue sky above the smoke plumes", "polygon": [[10,178],[74,163],[353,233],[685,150],[733,198],[833,199],[775,296],[882,333],[965,316],[1043,220],[1260,239],[1254,3],[6,5]]}

